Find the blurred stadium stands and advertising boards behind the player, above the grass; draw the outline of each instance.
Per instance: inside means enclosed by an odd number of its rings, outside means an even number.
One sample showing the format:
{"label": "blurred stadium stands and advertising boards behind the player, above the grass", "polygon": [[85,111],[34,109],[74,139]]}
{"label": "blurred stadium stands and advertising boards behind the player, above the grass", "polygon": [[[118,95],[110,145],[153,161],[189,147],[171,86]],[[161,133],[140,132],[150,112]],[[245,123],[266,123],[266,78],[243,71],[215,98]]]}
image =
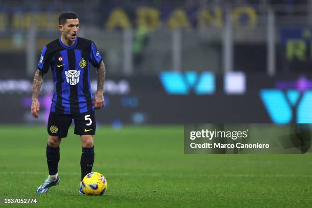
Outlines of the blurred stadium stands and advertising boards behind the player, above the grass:
{"label": "blurred stadium stands and advertising boards behind the player, above the grass", "polygon": [[96,0],[1,1],[1,123],[46,121],[52,75],[37,120],[32,79],[68,10],[106,64],[99,123],[312,122],[312,1]]}

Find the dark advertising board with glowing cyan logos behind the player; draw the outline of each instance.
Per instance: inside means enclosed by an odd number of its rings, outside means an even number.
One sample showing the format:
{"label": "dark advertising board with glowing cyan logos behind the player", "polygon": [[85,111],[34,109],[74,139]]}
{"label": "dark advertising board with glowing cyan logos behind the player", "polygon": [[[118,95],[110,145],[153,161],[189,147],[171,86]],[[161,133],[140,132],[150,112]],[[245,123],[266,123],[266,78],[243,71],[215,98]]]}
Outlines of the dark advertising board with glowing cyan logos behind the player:
{"label": "dark advertising board with glowing cyan logos behind the player", "polygon": [[[99,123],[309,123],[312,122],[311,82],[307,77],[270,79],[266,75],[232,72],[161,72],[150,77],[116,77],[105,83],[104,111]],[[91,82],[96,89],[96,80]],[[46,122],[53,95],[53,82],[41,90],[41,118],[29,114],[32,83],[0,81],[2,123]],[[17,96],[18,95],[18,96]],[[16,101],[17,100],[17,101]],[[4,106],[7,106],[4,108]],[[218,109],[216,111],[216,109]],[[11,112],[12,112],[11,111]],[[10,116],[9,116],[10,114]]]}

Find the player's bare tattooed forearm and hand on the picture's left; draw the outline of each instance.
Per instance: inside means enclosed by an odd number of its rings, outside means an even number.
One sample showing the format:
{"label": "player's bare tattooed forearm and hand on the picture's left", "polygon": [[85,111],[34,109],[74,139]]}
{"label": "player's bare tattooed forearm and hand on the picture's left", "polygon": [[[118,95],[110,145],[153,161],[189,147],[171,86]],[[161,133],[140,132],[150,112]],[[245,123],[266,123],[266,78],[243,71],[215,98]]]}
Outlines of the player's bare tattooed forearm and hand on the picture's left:
{"label": "player's bare tattooed forearm and hand on the picture's left", "polygon": [[38,101],[39,91],[43,82],[43,73],[37,69],[33,80],[33,95],[31,113],[34,118],[38,118],[37,111],[39,111],[40,103]]}

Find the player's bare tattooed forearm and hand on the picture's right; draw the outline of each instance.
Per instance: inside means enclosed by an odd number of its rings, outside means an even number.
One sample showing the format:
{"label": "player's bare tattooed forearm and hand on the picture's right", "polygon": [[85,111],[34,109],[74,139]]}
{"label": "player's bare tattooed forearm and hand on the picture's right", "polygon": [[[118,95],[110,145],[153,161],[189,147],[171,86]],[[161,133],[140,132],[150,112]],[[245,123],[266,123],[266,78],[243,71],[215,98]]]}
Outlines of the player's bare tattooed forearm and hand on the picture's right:
{"label": "player's bare tattooed forearm and hand on the picture's right", "polygon": [[100,109],[104,107],[103,93],[104,93],[105,75],[106,75],[105,65],[103,61],[101,61],[100,65],[98,66],[96,70],[97,90],[96,90],[96,93],[94,95],[94,100],[93,100],[95,109]]}

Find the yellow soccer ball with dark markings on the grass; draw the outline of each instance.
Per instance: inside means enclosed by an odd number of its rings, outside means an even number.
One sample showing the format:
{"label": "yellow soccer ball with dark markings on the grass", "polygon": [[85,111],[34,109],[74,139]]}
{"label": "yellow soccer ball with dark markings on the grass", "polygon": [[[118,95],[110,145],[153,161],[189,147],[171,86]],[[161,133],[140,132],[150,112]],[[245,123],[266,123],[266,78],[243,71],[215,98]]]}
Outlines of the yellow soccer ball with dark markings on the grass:
{"label": "yellow soccer ball with dark markings on the grass", "polygon": [[82,181],[82,190],[87,195],[101,196],[107,190],[106,178],[97,172],[88,173]]}

